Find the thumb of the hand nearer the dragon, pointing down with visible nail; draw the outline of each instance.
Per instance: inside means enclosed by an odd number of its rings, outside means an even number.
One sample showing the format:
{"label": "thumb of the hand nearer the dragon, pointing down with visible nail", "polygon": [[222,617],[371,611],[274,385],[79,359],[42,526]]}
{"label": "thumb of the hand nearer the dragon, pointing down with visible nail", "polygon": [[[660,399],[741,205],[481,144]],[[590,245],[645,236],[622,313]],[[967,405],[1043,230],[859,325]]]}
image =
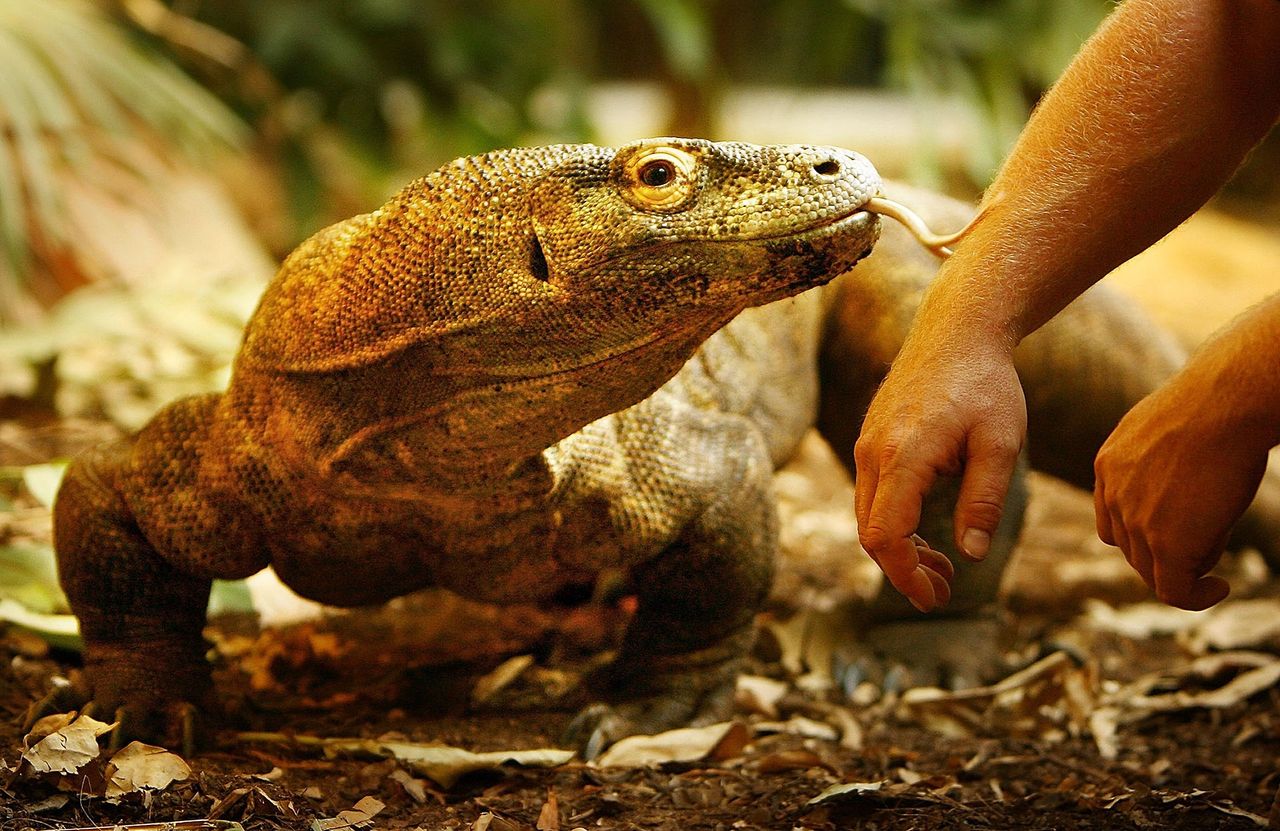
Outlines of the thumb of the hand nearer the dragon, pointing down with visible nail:
{"label": "thumb of the hand nearer the dragon, pointing down with visible nail", "polygon": [[983,429],[969,438],[955,511],[956,545],[969,560],[982,560],[991,551],[1020,449],[1021,439],[1011,434]]}

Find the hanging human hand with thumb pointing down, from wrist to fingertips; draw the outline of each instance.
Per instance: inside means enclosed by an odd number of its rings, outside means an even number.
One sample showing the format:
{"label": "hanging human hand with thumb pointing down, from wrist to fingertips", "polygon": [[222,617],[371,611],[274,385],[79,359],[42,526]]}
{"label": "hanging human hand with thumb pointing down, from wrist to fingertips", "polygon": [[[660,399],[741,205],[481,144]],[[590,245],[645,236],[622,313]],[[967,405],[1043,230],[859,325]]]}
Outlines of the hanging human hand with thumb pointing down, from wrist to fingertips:
{"label": "hanging human hand with thumb pointing down, from wrist to fingertips", "polygon": [[1010,348],[934,333],[902,347],[854,448],[854,507],[863,548],[920,611],[950,599],[954,574],[946,556],[915,535],[925,493],[940,475],[963,471],[955,540],[982,560],[1025,434],[1027,403]]}

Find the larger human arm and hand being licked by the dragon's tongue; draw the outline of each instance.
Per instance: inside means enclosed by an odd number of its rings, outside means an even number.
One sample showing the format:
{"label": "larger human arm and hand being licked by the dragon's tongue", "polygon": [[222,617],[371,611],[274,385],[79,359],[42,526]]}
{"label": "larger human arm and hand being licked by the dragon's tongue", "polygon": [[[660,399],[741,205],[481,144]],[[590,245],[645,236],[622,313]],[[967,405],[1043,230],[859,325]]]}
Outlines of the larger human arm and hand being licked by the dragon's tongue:
{"label": "larger human arm and hand being licked by the dragon's tongue", "polygon": [[1000,519],[1025,433],[1014,347],[1212,196],[1277,113],[1275,0],[1128,0],[1046,96],[855,448],[863,545],[916,606],[945,581],[910,537],[934,479],[964,472],[968,556]]}

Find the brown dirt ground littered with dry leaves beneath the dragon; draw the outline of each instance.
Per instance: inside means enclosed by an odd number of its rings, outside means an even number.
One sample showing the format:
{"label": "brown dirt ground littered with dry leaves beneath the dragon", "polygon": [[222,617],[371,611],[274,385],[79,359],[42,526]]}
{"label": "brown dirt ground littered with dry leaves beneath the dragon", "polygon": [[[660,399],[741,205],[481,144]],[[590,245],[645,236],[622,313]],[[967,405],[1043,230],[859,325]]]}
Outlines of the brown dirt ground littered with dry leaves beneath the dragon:
{"label": "brown dirt ground littered with dry leaves beneath the dragon", "polygon": [[[1240,247],[1222,227],[1190,233]],[[1178,268],[1185,251],[1157,256]],[[1161,293],[1158,274],[1125,288]],[[1204,319],[1165,323],[1194,341]],[[0,426],[0,466],[102,432]],[[845,648],[877,577],[847,481],[812,443],[777,485],[786,551],[739,726],[659,757],[676,761],[500,763],[557,746],[573,682],[616,640],[627,598],[548,612],[426,593],[269,629],[221,618],[207,633],[227,708],[212,743],[186,779],[118,798],[100,795],[105,754],[76,775],[22,761],[28,706],[73,679],[78,657],[8,627],[0,830],[1280,828],[1280,584],[1257,556],[1229,565],[1235,592],[1217,611],[1169,611],[1093,537],[1087,496],[1036,479],[1001,609],[979,630],[1000,639],[1004,680],[946,694],[891,674],[881,694]],[[46,522],[14,504],[0,544]],[[442,775],[406,755],[442,744],[498,763]],[[396,748],[401,761],[387,758]]]}

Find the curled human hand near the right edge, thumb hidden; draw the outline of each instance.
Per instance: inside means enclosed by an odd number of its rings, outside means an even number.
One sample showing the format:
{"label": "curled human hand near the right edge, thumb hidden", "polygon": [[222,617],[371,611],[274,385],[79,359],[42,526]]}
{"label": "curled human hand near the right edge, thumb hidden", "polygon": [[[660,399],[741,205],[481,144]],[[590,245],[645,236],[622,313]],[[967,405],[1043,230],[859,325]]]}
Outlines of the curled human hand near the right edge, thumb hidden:
{"label": "curled human hand near the right edge, thumb hidden", "polygon": [[1098,537],[1156,597],[1196,611],[1230,590],[1207,575],[1267,465],[1268,444],[1249,440],[1215,391],[1184,370],[1121,419],[1094,462]]}

